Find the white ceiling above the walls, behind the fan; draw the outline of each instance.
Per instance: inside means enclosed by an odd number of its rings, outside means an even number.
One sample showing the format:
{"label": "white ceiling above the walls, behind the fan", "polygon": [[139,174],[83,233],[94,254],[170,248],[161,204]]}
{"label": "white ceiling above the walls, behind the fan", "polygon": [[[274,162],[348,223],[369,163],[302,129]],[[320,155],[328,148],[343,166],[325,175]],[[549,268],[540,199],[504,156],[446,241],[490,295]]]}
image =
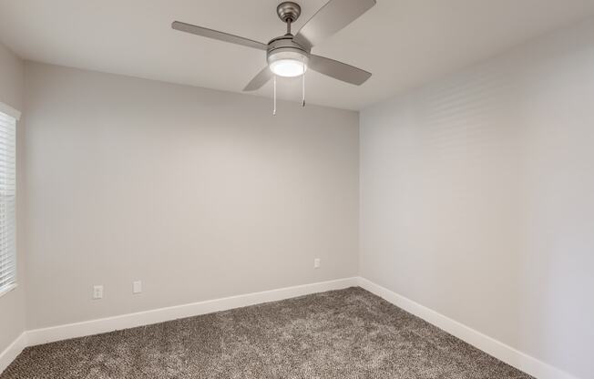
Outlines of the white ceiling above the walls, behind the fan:
{"label": "white ceiling above the walls, behind the fan", "polygon": [[[325,0],[297,0],[302,26]],[[280,0],[0,0],[0,42],[25,59],[241,92],[265,53],[172,30],[173,20],[267,43]],[[354,87],[308,73],[307,101],[361,109],[594,15],[592,0],[378,0],[313,53],[374,76]],[[300,82],[280,96],[299,101]],[[271,97],[269,83],[255,92]]]}

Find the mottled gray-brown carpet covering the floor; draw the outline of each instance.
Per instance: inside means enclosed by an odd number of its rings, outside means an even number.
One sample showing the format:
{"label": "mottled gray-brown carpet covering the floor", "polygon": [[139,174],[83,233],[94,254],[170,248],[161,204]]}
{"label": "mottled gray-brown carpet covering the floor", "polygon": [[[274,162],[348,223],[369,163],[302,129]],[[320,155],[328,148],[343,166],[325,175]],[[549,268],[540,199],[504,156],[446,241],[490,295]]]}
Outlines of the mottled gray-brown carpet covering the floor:
{"label": "mottled gray-brown carpet covering the floor", "polygon": [[0,379],[529,375],[360,288],[27,348]]}

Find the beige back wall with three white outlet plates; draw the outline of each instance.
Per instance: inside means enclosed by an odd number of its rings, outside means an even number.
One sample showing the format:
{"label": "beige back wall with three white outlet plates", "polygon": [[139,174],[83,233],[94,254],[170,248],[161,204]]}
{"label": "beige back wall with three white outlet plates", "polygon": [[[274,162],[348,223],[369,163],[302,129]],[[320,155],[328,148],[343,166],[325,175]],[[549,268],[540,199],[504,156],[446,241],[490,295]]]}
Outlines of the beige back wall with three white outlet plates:
{"label": "beige back wall with three white outlet plates", "polygon": [[27,63],[27,328],[356,275],[358,115],[271,105]]}

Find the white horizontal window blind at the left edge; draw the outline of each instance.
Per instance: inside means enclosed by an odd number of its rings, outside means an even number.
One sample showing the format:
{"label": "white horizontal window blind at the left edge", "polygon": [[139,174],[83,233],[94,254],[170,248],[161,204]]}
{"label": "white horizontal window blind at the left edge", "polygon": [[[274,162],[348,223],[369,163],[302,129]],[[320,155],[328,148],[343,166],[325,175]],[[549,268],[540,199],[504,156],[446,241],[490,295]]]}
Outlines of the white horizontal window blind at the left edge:
{"label": "white horizontal window blind at the left edge", "polygon": [[0,294],[16,284],[16,119],[0,111]]}

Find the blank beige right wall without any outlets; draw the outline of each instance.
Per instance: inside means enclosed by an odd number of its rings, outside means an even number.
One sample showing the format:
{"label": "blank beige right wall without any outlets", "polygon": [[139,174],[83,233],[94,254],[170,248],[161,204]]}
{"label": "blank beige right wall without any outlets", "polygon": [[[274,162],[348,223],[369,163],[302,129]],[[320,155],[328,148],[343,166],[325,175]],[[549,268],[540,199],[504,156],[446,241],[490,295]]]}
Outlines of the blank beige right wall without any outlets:
{"label": "blank beige right wall without any outlets", "polygon": [[594,373],[594,23],[361,114],[365,278]]}

